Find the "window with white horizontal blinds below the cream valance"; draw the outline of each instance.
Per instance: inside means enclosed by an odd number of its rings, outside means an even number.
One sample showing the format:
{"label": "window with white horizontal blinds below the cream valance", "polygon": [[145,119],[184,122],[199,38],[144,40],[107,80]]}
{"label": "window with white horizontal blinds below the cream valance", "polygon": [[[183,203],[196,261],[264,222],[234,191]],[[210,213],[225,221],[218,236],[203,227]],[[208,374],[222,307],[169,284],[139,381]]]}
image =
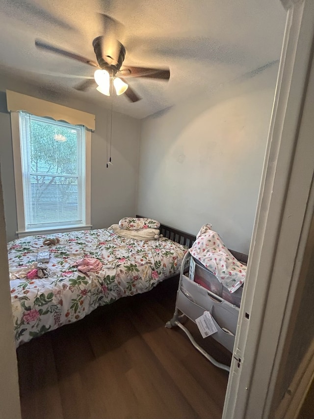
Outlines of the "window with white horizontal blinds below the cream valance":
{"label": "window with white horizontal blinds below the cream valance", "polygon": [[90,228],[90,132],[11,112],[18,235]]}

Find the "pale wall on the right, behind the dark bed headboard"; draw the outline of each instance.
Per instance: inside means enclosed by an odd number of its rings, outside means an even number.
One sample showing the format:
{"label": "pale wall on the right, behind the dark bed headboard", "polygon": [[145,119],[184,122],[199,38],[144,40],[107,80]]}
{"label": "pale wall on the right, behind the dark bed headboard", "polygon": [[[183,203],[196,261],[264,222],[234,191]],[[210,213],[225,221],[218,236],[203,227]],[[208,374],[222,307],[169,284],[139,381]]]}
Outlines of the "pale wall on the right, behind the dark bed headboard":
{"label": "pale wall on the right, behind the dark bed headboard", "polygon": [[142,124],[137,213],[248,252],[278,63]]}

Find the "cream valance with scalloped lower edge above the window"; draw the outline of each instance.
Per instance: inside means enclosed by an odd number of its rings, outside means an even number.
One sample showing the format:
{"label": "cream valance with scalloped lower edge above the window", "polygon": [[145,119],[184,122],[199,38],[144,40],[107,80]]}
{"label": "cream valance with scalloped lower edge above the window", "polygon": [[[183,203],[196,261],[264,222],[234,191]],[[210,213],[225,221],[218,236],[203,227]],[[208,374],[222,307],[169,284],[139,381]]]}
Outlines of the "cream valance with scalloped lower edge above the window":
{"label": "cream valance with scalloped lower edge above the window", "polygon": [[84,125],[92,131],[95,130],[95,115],[92,113],[78,111],[12,90],[6,91],[6,103],[9,112],[26,111],[32,115],[46,116],[55,121],[69,122],[72,125]]}

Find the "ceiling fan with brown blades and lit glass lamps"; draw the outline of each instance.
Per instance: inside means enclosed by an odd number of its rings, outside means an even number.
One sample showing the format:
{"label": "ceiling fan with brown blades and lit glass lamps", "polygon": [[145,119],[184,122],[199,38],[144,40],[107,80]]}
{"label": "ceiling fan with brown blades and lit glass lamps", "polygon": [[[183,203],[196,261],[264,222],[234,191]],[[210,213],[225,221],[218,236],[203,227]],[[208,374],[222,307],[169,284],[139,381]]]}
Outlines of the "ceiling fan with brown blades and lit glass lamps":
{"label": "ceiling fan with brown blades and lit glass lamps", "polygon": [[121,24],[108,15],[102,13],[99,15],[103,21],[105,35],[97,36],[93,40],[93,48],[97,62],[54,47],[53,45],[38,39],[35,40],[35,46],[97,68],[94,73],[94,78],[87,78],[75,87],[75,89],[79,91],[86,91],[95,84],[98,84],[97,90],[106,96],[110,96],[113,94],[114,87],[117,95],[125,93],[131,102],[137,102],[141,97],[126,83],[124,80],[125,78],[144,77],[163,81],[169,80],[169,68],[124,66],[123,62],[126,56],[126,49],[116,37],[117,28],[119,26],[121,27]]}

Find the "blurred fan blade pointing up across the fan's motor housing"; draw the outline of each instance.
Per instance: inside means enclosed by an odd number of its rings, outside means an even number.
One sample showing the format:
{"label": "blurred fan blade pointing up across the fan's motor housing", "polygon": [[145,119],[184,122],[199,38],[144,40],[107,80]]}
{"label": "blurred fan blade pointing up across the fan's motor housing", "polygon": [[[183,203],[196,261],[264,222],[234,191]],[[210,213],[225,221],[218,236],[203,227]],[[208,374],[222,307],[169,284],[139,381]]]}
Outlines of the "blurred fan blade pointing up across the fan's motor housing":
{"label": "blurred fan blade pointing up across the fan's motor housing", "polygon": [[113,19],[111,16],[99,13],[103,23],[104,35],[102,39],[102,56],[109,58],[108,64],[116,65],[121,52],[121,38],[124,32],[124,25]]}

